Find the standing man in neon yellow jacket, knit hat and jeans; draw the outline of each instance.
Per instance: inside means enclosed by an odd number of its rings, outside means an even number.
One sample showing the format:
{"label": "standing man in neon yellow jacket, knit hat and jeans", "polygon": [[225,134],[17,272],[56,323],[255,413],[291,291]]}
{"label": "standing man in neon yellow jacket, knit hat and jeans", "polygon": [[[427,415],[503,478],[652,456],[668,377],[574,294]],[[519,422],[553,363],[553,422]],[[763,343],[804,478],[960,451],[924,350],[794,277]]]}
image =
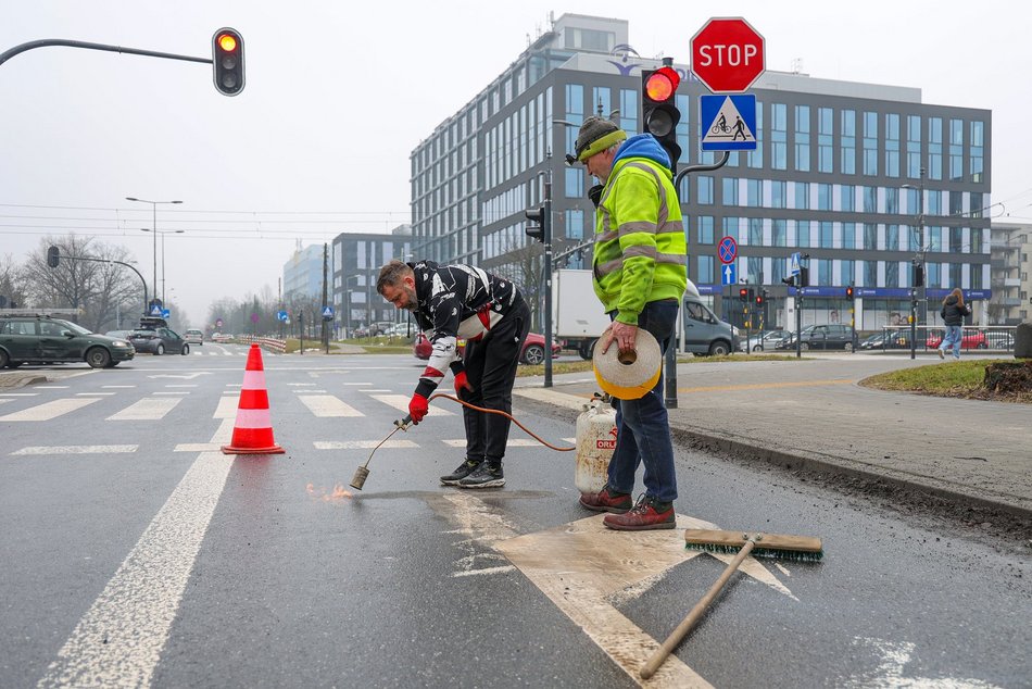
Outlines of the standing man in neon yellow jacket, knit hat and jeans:
{"label": "standing man in neon yellow jacket, knit hat and jeans", "polygon": [[[595,213],[592,281],[613,324],[596,347],[634,350],[639,328],[664,351],[674,334],[688,284],[684,228],[670,159],[651,134],[627,138],[608,120],[588,117],[571,164],[582,163],[603,185]],[[605,487],[580,504],[608,512],[618,530],[674,528],[677,475],[674,442],[663,403],[663,377],[638,400],[614,400],[616,449]],[[645,465],[645,492],[632,500],[634,475]]]}

